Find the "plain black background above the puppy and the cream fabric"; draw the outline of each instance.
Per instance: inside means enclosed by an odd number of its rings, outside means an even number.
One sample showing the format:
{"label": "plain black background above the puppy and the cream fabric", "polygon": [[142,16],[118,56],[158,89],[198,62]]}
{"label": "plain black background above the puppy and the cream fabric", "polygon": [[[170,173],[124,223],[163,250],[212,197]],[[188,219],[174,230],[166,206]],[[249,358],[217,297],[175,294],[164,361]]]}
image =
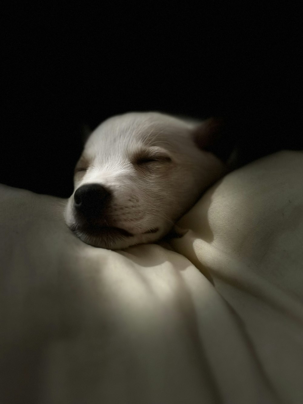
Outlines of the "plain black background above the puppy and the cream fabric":
{"label": "plain black background above the puppy and the cream fabric", "polygon": [[102,4],[6,5],[1,183],[68,197],[83,124],[128,111],[223,116],[248,161],[302,148],[296,10]]}

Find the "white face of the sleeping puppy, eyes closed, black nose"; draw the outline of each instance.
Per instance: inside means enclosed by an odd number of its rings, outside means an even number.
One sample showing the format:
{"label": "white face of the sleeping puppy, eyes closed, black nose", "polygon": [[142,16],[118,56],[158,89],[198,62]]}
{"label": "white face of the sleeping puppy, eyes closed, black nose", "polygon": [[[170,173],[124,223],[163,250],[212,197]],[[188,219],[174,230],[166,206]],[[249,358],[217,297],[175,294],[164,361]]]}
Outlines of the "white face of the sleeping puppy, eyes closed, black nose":
{"label": "white face of the sleeping puppy, eyes closed, black nose", "polygon": [[109,249],[162,238],[225,171],[197,146],[210,127],[156,112],[103,122],[76,165],[67,225],[87,244]]}

